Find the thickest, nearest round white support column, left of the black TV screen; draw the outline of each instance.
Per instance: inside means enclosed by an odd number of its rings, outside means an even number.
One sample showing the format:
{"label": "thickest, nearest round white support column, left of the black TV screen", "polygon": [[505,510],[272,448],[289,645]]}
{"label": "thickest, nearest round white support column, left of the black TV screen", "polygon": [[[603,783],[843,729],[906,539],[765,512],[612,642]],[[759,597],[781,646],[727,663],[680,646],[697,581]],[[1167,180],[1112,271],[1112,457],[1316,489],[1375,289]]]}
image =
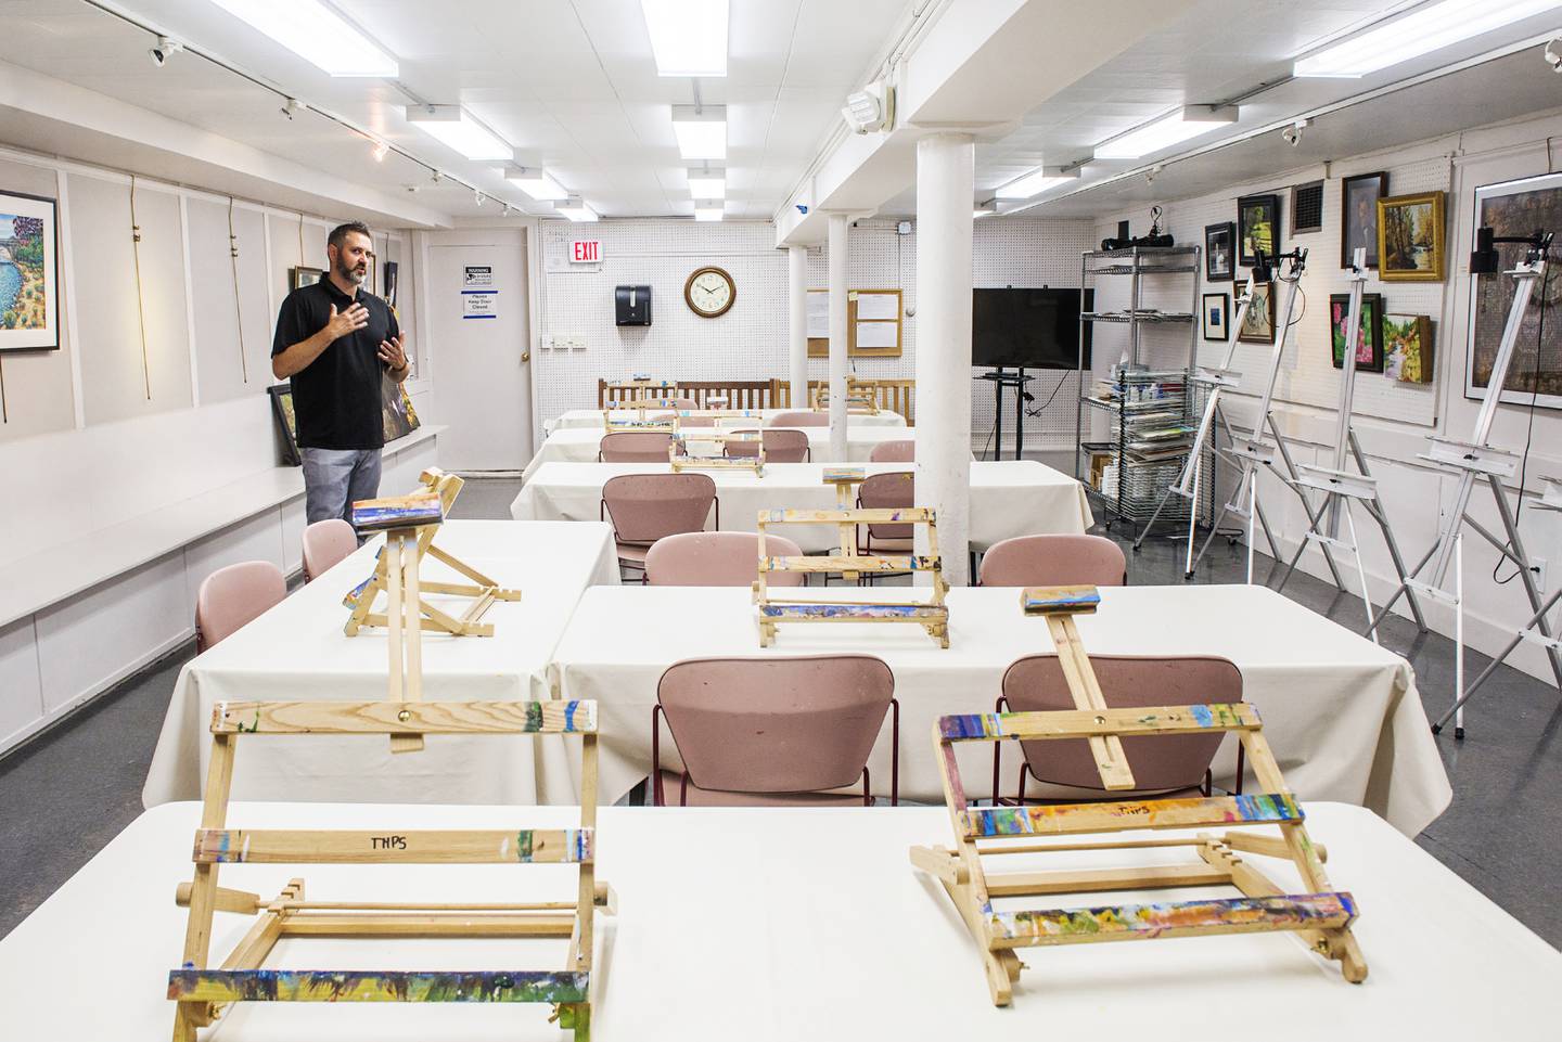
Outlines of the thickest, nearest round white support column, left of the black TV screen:
{"label": "thickest, nearest round white support column, left of the black TV screen", "polygon": [[[917,505],[937,511],[951,586],[970,581],[972,198],[976,144],[917,142]],[[926,553],[917,533],[917,553]]]}

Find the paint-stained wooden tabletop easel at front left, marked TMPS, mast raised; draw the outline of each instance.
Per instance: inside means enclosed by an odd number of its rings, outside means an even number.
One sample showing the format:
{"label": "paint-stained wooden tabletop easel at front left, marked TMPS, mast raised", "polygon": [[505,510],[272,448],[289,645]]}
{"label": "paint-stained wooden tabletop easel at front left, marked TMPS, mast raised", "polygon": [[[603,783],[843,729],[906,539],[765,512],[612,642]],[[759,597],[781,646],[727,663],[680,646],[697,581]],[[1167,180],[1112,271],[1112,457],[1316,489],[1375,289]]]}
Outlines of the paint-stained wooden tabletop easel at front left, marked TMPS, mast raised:
{"label": "paint-stained wooden tabletop easel at front left, marked TMPS, mast raised", "polygon": [[[434,498],[434,497],[428,497]],[[434,498],[437,511],[439,500]],[[406,520],[422,520],[422,505]],[[389,522],[387,522],[389,523]],[[392,633],[412,626],[419,647],[415,567],[401,555],[423,525],[390,528],[395,559],[408,567],[409,598],[392,586]],[[381,555],[389,556],[389,555]],[[390,569],[397,575],[400,569]],[[395,580],[392,580],[395,583]],[[595,909],[614,911],[611,887],[595,878],[597,703],[594,701],[437,701],[422,703],[420,658],[409,658],[401,686],[400,648],[392,653],[386,701],[220,701],[211,720],[211,765],[200,828],[195,878],[180,884],[175,901],[189,908],[184,958],[169,973],[167,997],[178,1003],[173,1040],[194,1042],[197,1028],[236,1001],[414,1001],[551,1003],[561,1028],[576,1042],[590,1036],[592,928]],[[398,694],[405,695],[398,697]],[[581,742],[578,828],[551,830],[233,830],[228,798],[241,736],[387,734],[392,748],[420,748],[423,734],[558,734]],[[542,903],[378,903],[316,901],[291,880],[273,898],[217,884],[225,864],[573,864],[573,901]],[[220,965],[211,965],[216,912],[256,915]],[[569,939],[562,970],[281,970],[261,969],[283,937],[556,937]]]}

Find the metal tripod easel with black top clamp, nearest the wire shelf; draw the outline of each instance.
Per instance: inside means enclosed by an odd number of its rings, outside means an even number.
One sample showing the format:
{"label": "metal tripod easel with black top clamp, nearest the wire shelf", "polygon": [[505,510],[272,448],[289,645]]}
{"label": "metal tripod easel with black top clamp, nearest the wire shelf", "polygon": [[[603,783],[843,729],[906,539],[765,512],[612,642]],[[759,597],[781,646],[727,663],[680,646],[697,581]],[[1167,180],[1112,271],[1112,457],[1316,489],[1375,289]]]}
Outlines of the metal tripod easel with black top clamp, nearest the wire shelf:
{"label": "metal tripod easel with black top clamp, nearest the wire shelf", "polygon": [[[1290,272],[1289,273],[1276,272],[1275,278],[1271,278],[1268,266],[1268,261],[1271,259],[1281,264],[1289,261]],[[1187,575],[1193,575],[1193,572],[1198,569],[1198,562],[1204,559],[1204,555],[1209,551],[1209,545],[1215,541],[1215,536],[1220,533],[1220,523],[1226,519],[1228,514],[1236,514],[1237,517],[1246,519],[1250,531],[1253,528],[1251,523],[1253,519],[1250,517],[1250,514],[1256,514],[1259,525],[1262,525],[1264,528],[1264,536],[1268,539],[1270,556],[1279,561],[1281,556],[1279,545],[1275,542],[1275,534],[1268,526],[1268,520],[1265,520],[1264,517],[1264,508],[1259,505],[1259,497],[1257,497],[1259,467],[1273,469],[1276,455],[1281,458],[1281,462],[1286,464],[1286,475],[1276,475],[1276,476],[1279,476],[1279,480],[1284,481],[1286,486],[1290,487],[1293,492],[1296,492],[1296,495],[1301,498],[1301,505],[1307,511],[1307,523],[1309,525],[1315,523],[1318,520],[1318,516],[1321,514],[1321,509],[1315,511],[1312,508],[1312,503],[1307,501],[1307,497],[1303,495],[1301,491],[1296,487],[1296,464],[1295,461],[1292,461],[1290,450],[1286,447],[1286,439],[1281,437],[1279,426],[1275,423],[1275,416],[1270,411],[1270,403],[1275,398],[1275,381],[1279,378],[1279,362],[1281,358],[1286,355],[1286,344],[1290,339],[1292,312],[1295,311],[1296,306],[1296,284],[1301,281],[1301,273],[1306,267],[1307,267],[1307,252],[1301,248],[1293,250],[1290,253],[1284,253],[1276,258],[1265,258],[1264,253],[1259,253],[1257,264],[1253,266],[1253,275],[1248,280],[1250,283],[1248,295],[1250,297],[1253,295],[1251,286],[1254,286],[1256,283],[1270,283],[1273,286],[1273,281],[1278,280],[1286,286],[1286,306],[1279,312],[1278,319],[1279,330],[1276,331],[1275,336],[1275,353],[1270,356],[1268,380],[1264,384],[1264,398],[1259,403],[1257,420],[1253,423],[1253,436],[1236,437],[1232,436],[1231,428],[1228,425],[1226,436],[1231,441],[1231,444],[1226,448],[1215,448],[1215,453],[1221,459],[1225,459],[1240,472],[1237,475],[1236,483],[1232,484],[1232,487],[1236,489],[1236,495],[1215,514],[1209,526],[1209,536],[1204,539],[1204,545],[1200,547],[1198,555],[1193,556],[1193,559],[1187,566]],[[1265,436],[1265,428],[1268,431],[1267,436]],[[1270,444],[1270,441],[1267,439],[1273,439],[1273,444]],[[1246,497],[1246,505],[1243,505],[1242,501],[1243,497]],[[1320,547],[1320,548],[1323,550],[1325,562],[1328,562],[1329,566],[1329,573],[1334,576],[1334,584],[1339,586],[1340,589],[1345,589],[1345,580],[1340,578],[1340,570],[1334,564],[1332,550],[1329,550],[1329,547]],[[1248,553],[1248,583],[1251,581],[1253,581],[1253,555]]]}

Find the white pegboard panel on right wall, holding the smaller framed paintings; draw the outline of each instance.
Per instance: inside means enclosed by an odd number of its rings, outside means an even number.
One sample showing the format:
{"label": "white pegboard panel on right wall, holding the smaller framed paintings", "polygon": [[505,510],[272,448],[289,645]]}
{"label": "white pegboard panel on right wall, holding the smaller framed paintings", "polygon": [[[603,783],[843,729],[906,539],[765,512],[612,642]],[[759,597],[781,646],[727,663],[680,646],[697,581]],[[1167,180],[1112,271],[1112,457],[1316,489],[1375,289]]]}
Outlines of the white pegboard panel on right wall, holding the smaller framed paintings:
{"label": "white pegboard panel on right wall, holding the smaller framed paintings", "polygon": [[[1200,244],[1204,241],[1204,225],[1236,222],[1237,198],[1242,195],[1270,194],[1281,197],[1279,209],[1279,248],[1292,250],[1296,245],[1307,248],[1307,269],[1301,278],[1301,292],[1296,298],[1296,319],[1290,342],[1281,358],[1279,378],[1275,383],[1275,398],[1281,403],[1307,405],[1321,409],[1332,409],[1340,398],[1340,372],[1334,369],[1329,345],[1329,295],[1350,292],[1348,272],[1340,267],[1340,206],[1342,178],[1357,173],[1382,170],[1389,175],[1389,195],[1409,195],[1414,192],[1448,191],[1453,181],[1453,167],[1446,156],[1420,158],[1400,166],[1385,164],[1382,156],[1336,162],[1328,172],[1323,167],[1298,170],[1268,181],[1251,181],[1236,184],[1214,195],[1162,203],[1162,228],[1176,236],[1179,244]],[[1323,183],[1323,230],[1307,234],[1290,234],[1290,186],[1315,181],[1328,173]],[[1148,206],[1137,206],[1131,211],[1111,214],[1097,223],[1097,237],[1115,234],[1117,222],[1128,219],[1132,222],[1132,233],[1148,231]],[[1448,234],[1453,230],[1453,206],[1450,200]],[[1451,248],[1451,247],[1450,247]],[[1450,256],[1453,256],[1450,253]],[[1451,264],[1450,264],[1451,269]],[[1236,295],[1246,280],[1246,269],[1239,267],[1236,281],[1207,283],[1200,291],[1223,292],[1231,295],[1231,317],[1236,319]],[[1128,280],[1103,280],[1122,283],[1114,286],[1114,294],[1103,306],[1122,306],[1126,302]],[[1376,269],[1368,272],[1364,292],[1382,294],[1382,306],[1392,314],[1423,314],[1432,319],[1434,351],[1440,358],[1453,350],[1462,356],[1462,344],[1448,344],[1442,330],[1443,295],[1448,283],[1384,283],[1376,277]],[[1100,289],[1097,291],[1101,292]],[[1282,292],[1276,287],[1276,308],[1284,303]],[[1147,306],[1187,308],[1187,297],[1179,291],[1179,300],[1162,300],[1156,294],[1145,295]],[[1236,337],[1236,330],[1231,333]],[[1103,337],[1104,339],[1104,337]],[[1100,341],[1098,341],[1100,342]],[[1186,345],[1186,341],[1182,341]],[[1204,341],[1198,336],[1198,361],[1201,366],[1220,366],[1225,358],[1226,344],[1221,341]],[[1264,380],[1268,375],[1273,350],[1267,344],[1239,344],[1232,367],[1242,373],[1242,394],[1262,395]],[[1157,364],[1159,355],[1151,364]],[[1104,372],[1111,367],[1115,353],[1097,350],[1095,367]],[[1439,373],[1450,372],[1443,362],[1437,362]],[[1443,376],[1439,376],[1443,378]],[[1398,420],[1418,426],[1434,426],[1437,422],[1437,384],[1410,384],[1393,380],[1382,373],[1362,372],[1356,376],[1356,395],[1353,411],[1359,416],[1371,416],[1385,420]]]}

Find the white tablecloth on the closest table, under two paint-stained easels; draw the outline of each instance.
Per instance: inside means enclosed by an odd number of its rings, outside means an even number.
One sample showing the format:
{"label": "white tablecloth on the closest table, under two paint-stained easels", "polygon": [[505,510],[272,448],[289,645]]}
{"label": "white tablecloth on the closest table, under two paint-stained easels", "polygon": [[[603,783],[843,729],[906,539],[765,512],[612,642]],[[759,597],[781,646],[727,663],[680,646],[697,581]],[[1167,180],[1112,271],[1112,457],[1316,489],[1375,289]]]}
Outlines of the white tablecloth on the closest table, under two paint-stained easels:
{"label": "white tablecloth on the closest table, under two paint-stained easels", "polygon": [[[1207,1042],[1220,1025],[1273,1042],[1554,1039],[1562,955],[1371,814],[1309,803],[1329,881],[1356,897],[1364,984],[1293,936],[1237,934],[1029,948],[1014,1005],[993,1008],[976,947],[943,887],[908,861],[912,844],[951,840],[943,808],[645,811],[603,808],[600,876],[619,912],[600,917],[594,973],[598,1042],[798,1039],[1129,1039]],[[256,828],[564,828],[572,808],[233,808]],[[191,878],[191,803],[147,811],[0,940],[8,1039],[166,1039],[169,970],[184,947],[173,886]],[[1259,830],[1267,831],[1267,830]],[[1156,833],[1165,836],[1167,833]],[[1246,856],[1282,887],[1295,876]],[[1186,864],[1187,851],[1025,855],[1017,870]],[[1025,864],[1020,864],[1025,862]],[[570,900],[561,865],[223,865],[223,886],[273,895],[301,875],[316,900]],[[1196,892],[1236,897],[1228,887]],[[1178,897],[1195,895],[1193,890]],[[1167,900],[1165,890],[1093,903]],[[1025,898],[1032,908],[1079,898]],[[220,959],[251,922],[219,912]],[[283,940],[291,969],[547,969],[561,940]],[[84,964],[91,961],[91,969]],[[77,973],[72,967],[81,967]],[[98,972],[97,967],[108,967]],[[91,980],[91,995],[83,980]],[[559,1042],[548,1006],[236,1003],[223,1042]]]}

